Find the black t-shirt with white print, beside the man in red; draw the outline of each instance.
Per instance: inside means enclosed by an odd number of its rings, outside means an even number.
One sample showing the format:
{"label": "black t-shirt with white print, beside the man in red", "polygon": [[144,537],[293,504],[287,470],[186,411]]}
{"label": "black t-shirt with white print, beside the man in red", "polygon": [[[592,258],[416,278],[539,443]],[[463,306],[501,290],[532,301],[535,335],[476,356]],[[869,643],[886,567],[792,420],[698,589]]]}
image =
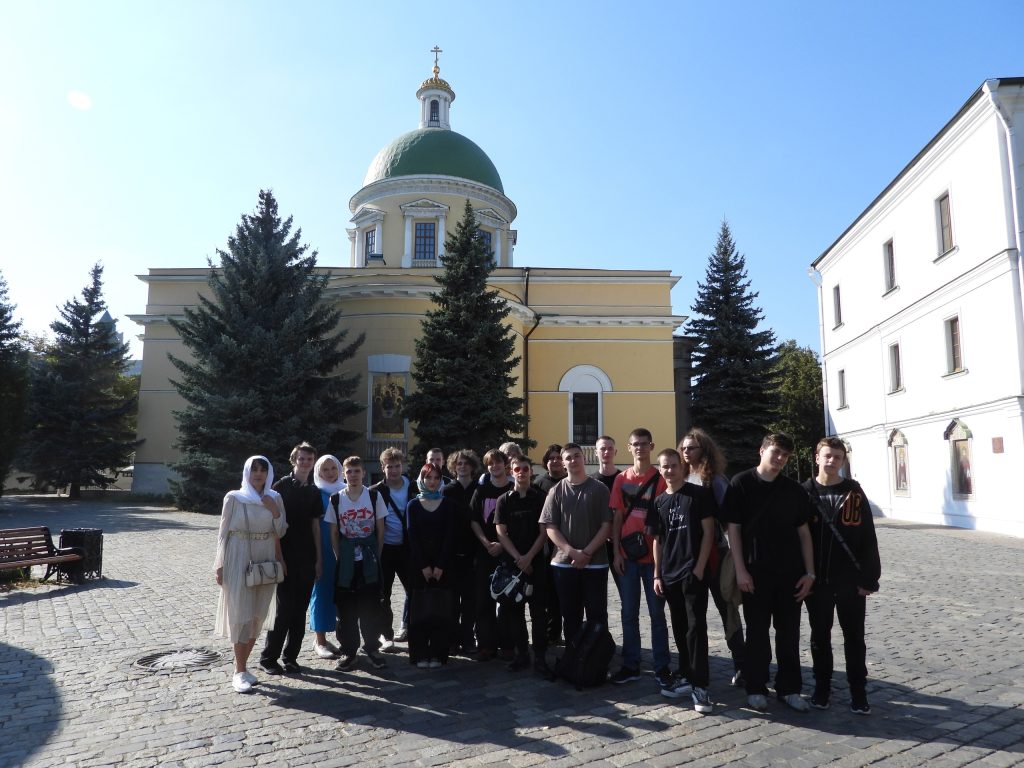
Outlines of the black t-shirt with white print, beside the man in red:
{"label": "black t-shirt with white print, beside the man in red", "polygon": [[689,577],[697,564],[703,542],[701,521],[715,516],[711,492],[692,482],[674,494],[665,492],[654,500],[654,513],[647,520],[651,534],[662,546],[660,575],[665,584],[675,584]]}

